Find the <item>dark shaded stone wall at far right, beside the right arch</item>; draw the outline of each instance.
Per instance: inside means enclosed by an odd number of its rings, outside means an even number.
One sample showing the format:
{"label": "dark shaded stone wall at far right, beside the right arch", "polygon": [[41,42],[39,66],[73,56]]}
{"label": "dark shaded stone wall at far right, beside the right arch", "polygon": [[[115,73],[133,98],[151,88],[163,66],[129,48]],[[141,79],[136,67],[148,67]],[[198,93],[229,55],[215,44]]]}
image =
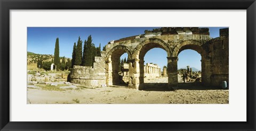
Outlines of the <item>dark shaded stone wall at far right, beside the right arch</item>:
{"label": "dark shaded stone wall at far right, beside the right arch", "polygon": [[211,86],[220,86],[221,81],[229,83],[229,37],[228,28],[220,29],[220,37],[211,40]]}

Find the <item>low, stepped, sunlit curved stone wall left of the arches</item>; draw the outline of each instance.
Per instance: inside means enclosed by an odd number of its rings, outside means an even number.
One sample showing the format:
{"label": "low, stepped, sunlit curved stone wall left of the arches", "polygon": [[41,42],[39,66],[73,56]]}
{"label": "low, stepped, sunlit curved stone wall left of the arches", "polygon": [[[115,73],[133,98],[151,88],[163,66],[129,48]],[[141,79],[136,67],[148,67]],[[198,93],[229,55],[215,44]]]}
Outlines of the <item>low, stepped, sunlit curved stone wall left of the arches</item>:
{"label": "low, stepped, sunlit curved stone wall left of the arches", "polygon": [[96,56],[93,67],[74,66],[70,71],[70,82],[88,87],[106,85],[105,55],[102,51],[101,57]]}

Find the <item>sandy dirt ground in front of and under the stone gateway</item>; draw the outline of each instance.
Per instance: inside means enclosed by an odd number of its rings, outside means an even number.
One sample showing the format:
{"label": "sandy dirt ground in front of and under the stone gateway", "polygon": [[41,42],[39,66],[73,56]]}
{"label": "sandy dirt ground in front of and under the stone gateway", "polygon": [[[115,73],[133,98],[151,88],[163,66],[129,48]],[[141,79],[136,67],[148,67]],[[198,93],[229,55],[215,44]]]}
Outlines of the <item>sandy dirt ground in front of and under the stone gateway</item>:
{"label": "sandy dirt ground in front of and under the stone gateway", "polygon": [[[167,77],[146,79],[145,89],[137,91],[125,86],[85,88],[62,86],[61,88],[28,86],[28,104],[227,104],[229,90],[203,87],[200,83],[182,83],[175,91],[167,89]],[[62,84],[63,85],[63,84]],[[71,88],[70,88],[71,87]],[[54,91],[55,90],[55,91]]]}

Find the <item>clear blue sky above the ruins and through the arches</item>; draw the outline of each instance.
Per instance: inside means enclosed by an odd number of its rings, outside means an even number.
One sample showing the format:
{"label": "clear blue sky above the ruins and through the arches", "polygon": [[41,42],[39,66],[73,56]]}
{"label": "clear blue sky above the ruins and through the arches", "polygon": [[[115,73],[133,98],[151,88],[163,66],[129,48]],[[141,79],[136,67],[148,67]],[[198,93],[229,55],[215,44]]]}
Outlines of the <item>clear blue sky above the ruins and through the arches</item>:
{"label": "clear blue sky above the ruins and through the arches", "polygon": [[[110,40],[144,34],[145,30],[159,27],[28,27],[27,51],[38,54],[54,54],[55,40],[59,38],[60,56],[71,58],[73,45],[78,37],[87,39],[92,35],[92,43],[96,47],[101,43],[101,50]],[[212,38],[219,37],[219,29],[223,27],[209,27]],[[161,68],[167,64],[166,52],[161,48],[153,48],[145,55],[146,63],[156,63]],[[127,53],[121,56],[126,57]],[[193,58],[193,59],[191,59]],[[184,50],[179,54],[178,68],[186,66],[201,70],[201,55],[193,50]]]}

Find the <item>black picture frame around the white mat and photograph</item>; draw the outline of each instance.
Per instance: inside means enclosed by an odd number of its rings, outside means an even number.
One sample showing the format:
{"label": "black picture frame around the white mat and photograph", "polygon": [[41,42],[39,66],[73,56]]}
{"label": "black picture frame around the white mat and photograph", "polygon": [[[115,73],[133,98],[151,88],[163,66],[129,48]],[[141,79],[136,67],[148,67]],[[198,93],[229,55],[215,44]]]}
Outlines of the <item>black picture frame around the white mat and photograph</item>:
{"label": "black picture frame around the white mat and photograph", "polygon": [[[255,130],[255,0],[0,0],[1,130]],[[165,9],[246,10],[246,122],[12,122],[10,121],[10,10]],[[243,33],[243,32],[241,32]],[[240,59],[240,58],[237,58]],[[245,59],[245,58],[244,58]],[[238,60],[239,61],[239,60]]]}

